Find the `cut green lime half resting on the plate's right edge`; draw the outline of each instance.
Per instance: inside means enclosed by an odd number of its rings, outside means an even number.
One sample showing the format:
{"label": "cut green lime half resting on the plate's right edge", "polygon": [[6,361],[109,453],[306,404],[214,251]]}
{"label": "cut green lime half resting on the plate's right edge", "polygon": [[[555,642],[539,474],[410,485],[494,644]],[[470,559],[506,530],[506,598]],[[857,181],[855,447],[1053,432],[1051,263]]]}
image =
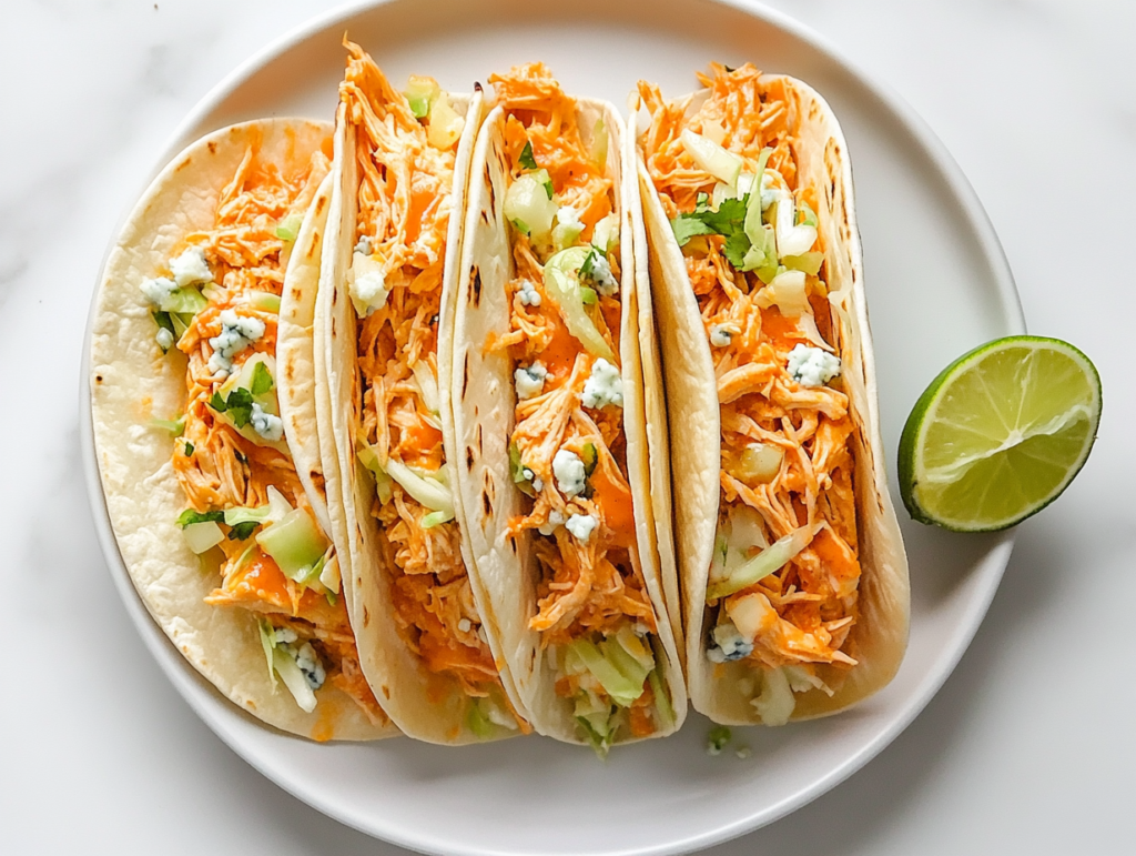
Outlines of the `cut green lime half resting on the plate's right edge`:
{"label": "cut green lime half resting on the plate's right edge", "polygon": [[961,532],[1036,514],[1077,475],[1101,421],[1101,377],[1060,339],[1013,335],[959,357],[919,397],[900,439],[917,521]]}

